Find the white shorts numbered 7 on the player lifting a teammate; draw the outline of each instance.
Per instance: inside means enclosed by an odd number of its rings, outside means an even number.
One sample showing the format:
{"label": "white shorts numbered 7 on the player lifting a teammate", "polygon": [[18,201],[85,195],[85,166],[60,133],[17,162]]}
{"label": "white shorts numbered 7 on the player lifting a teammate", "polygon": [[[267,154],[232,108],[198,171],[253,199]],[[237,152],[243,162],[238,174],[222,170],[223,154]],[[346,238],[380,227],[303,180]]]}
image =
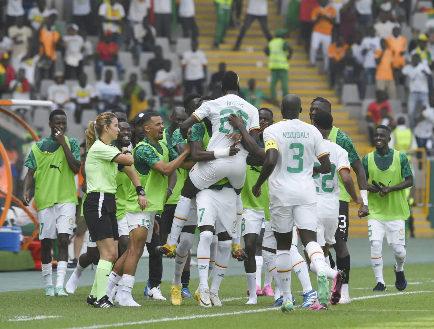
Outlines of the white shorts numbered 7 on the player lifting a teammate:
{"label": "white shorts numbered 7 on the player lifting a teammate", "polygon": [[214,226],[216,235],[227,232],[231,238],[237,236],[237,195],[230,187],[221,191],[203,189],[196,195],[197,227]]}

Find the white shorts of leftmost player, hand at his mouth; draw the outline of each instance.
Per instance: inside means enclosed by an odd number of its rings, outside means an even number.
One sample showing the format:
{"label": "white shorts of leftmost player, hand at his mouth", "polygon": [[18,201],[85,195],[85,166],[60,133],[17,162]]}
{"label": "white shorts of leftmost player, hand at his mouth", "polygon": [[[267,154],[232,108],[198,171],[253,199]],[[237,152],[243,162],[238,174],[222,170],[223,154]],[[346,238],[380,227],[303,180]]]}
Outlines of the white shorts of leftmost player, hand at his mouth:
{"label": "white shorts of leftmost player, hand at his mouth", "polygon": [[71,235],[76,219],[76,204],[56,203],[38,212],[39,240],[56,239],[60,233]]}

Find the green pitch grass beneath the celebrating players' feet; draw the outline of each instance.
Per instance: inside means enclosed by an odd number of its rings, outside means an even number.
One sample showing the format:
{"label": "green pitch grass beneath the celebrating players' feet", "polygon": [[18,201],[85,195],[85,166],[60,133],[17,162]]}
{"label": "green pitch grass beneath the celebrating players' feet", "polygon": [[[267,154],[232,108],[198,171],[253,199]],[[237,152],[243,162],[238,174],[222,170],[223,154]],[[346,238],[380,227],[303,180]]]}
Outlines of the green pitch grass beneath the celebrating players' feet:
{"label": "green pitch grass beneath the celebrating players' feet", "polygon": [[[384,268],[388,291],[373,293],[375,279],[371,267],[351,270],[350,295],[352,303],[331,306],[329,311],[309,311],[297,307],[282,313],[280,308],[268,307],[273,297],[258,297],[257,305],[247,302],[244,276],[226,277],[220,289],[224,307],[202,308],[194,298],[184,298],[181,306],[170,303],[170,282],[161,284],[167,301],[148,301],[143,296],[145,283],[135,284],[133,296],[142,307],[95,309],[85,299],[90,287],[79,288],[68,297],[46,297],[43,290],[0,293],[0,328],[2,329],[99,329],[135,328],[434,328],[433,265],[408,265],[408,281],[404,293],[395,288],[393,267]],[[35,273],[35,280],[41,279]],[[42,280],[42,279],[41,279]],[[311,274],[312,286],[316,288]],[[7,284],[3,282],[2,284]],[[191,280],[193,291],[198,280]],[[300,305],[301,285],[292,276],[296,305]],[[36,319],[36,317],[61,316]],[[26,321],[11,321],[11,320]]]}

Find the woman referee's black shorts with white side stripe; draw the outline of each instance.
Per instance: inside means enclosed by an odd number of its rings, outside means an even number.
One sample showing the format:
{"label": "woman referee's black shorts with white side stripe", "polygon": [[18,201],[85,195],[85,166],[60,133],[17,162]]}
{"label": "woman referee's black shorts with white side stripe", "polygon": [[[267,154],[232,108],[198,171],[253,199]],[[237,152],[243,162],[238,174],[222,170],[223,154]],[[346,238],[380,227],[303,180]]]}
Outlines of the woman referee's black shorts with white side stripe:
{"label": "woman referee's black shorts with white side stripe", "polygon": [[119,240],[114,194],[89,193],[84,201],[83,215],[93,242],[107,238]]}

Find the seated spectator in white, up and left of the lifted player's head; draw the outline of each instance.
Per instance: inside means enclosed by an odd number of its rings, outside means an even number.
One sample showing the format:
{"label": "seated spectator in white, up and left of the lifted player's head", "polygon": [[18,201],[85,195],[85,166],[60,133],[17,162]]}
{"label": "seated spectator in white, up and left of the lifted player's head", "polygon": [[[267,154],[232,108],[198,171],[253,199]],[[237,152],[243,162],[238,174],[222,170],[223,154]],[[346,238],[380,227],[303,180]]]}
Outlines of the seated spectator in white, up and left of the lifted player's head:
{"label": "seated spectator in white, up and left of the lifted player's head", "polygon": [[169,59],[164,60],[164,65],[161,70],[155,75],[154,84],[157,88],[157,93],[160,96],[160,103],[163,104],[166,98],[173,98],[182,94],[181,81],[174,70],[172,70],[172,62]]}

